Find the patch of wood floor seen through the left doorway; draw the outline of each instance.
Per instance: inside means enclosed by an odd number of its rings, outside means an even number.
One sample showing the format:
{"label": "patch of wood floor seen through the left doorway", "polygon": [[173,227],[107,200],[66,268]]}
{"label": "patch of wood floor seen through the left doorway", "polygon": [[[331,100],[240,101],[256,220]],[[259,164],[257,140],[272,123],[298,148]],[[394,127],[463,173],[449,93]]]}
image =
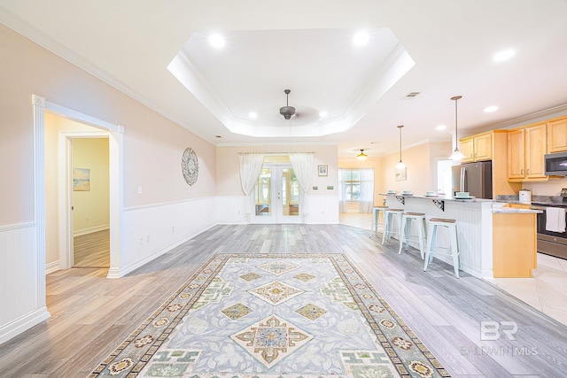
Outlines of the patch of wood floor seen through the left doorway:
{"label": "patch of wood floor seen through the left doorway", "polygon": [[110,230],[74,236],[74,267],[110,267]]}

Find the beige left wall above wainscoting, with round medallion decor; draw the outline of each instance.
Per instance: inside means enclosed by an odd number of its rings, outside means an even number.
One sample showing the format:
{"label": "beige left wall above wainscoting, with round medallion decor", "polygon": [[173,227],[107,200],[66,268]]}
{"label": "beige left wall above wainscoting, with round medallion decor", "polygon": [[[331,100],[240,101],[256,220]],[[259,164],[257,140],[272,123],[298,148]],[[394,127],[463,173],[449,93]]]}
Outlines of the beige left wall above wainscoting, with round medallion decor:
{"label": "beige left wall above wainscoting, with round medallion decor", "polygon": [[[0,226],[35,219],[32,94],[125,127],[125,207],[214,196],[214,145],[3,25],[0,46]],[[192,187],[181,173],[187,147],[199,159]]]}

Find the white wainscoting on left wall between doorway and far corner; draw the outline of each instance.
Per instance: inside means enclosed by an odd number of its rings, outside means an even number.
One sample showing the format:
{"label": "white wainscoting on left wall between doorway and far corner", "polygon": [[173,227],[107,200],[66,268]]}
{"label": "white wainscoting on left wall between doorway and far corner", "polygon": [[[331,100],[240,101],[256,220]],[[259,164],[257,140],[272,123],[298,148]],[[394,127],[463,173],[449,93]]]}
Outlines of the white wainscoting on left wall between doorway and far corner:
{"label": "white wainscoting on left wall between doorway and far corner", "polygon": [[215,197],[125,209],[120,269],[113,266],[111,258],[109,278],[128,274],[213,227],[215,215]]}

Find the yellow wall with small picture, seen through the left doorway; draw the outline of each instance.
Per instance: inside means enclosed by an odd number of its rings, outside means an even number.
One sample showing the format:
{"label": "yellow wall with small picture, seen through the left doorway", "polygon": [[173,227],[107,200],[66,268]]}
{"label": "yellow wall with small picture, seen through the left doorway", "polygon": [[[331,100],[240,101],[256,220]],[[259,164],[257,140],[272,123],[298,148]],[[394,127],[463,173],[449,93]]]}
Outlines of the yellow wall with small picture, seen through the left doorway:
{"label": "yellow wall with small picture, seen through the left doorway", "polygon": [[82,234],[110,226],[108,138],[75,138],[73,168],[90,170],[90,190],[73,191],[73,230]]}

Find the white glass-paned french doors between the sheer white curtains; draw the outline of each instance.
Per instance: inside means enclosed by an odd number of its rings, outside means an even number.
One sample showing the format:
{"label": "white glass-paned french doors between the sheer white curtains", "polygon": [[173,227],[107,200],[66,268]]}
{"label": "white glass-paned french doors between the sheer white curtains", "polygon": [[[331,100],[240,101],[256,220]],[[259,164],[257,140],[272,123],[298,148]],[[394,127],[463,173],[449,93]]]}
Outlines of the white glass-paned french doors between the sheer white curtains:
{"label": "white glass-paned french doors between the sheer white curtains", "polygon": [[301,223],[301,190],[291,165],[264,164],[251,196],[252,223]]}

